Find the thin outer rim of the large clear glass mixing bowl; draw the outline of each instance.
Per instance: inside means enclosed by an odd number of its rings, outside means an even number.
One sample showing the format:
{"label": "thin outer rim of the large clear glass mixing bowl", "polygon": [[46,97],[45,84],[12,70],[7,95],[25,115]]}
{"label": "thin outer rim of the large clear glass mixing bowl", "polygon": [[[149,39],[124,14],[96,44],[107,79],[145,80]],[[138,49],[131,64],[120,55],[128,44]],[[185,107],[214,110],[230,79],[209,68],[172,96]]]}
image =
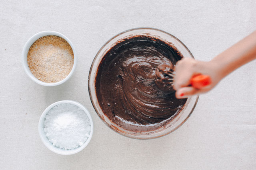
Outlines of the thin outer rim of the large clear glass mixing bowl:
{"label": "thin outer rim of the large clear glass mixing bowl", "polygon": [[[104,43],[104,44],[102,45],[102,47],[101,47],[101,48],[98,50],[98,52],[96,53],[96,55],[95,55],[95,57],[94,57],[94,59],[93,59],[93,61],[92,61],[92,64],[91,64],[91,66],[90,66],[90,71],[89,71],[89,75],[88,75],[88,91],[89,91],[90,100],[91,100],[91,103],[92,103],[92,106],[93,106],[94,110],[96,111],[97,115],[100,117],[100,119],[101,119],[102,121],[103,121],[103,119],[101,118],[100,114],[98,113],[98,111],[97,111],[97,109],[96,109],[96,106],[94,106],[94,103],[92,102],[92,92],[91,92],[91,90],[90,90],[90,86],[92,86],[92,85],[90,84],[90,75],[91,75],[91,73],[92,73],[92,67],[93,67],[93,65],[94,65],[94,63],[95,63],[95,61],[96,61],[96,57],[99,55],[100,51],[102,51],[102,49],[103,49],[110,41],[112,41],[112,39],[114,39],[114,38],[118,37],[119,35],[122,35],[122,34],[124,34],[124,33],[126,33],[126,32],[134,31],[134,30],[139,30],[139,29],[149,29],[149,30],[151,29],[151,30],[154,30],[154,31],[160,31],[160,32],[162,32],[162,33],[166,33],[166,34],[170,35],[171,37],[173,37],[174,39],[176,39],[176,40],[188,51],[188,53],[190,53],[190,55],[191,55],[192,58],[194,59],[194,56],[192,55],[192,53],[190,52],[190,50],[188,49],[188,47],[186,47],[186,45],[185,45],[184,43],[182,43],[182,41],[180,41],[180,39],[178,39],[178,38],[175,37],[174,35],[172,35],[172,34],[166,32],[166,31],[163,31],[163,30],[161,30],[161,29],[156,29],[156,28],[153,28],[153,27],[136,27],[136,28],[132,28],[132,29],[127,29],[127,30],[122,31],[122,32],[120,32],[120,33],[114,35],[113,37],[111,37],[108,41],[106,41],[106,43]],[[170,133],[176,131],[180,126],[182,126],[182,125],[186,122],[186,120],[190,117],[190,115],[192,114],[192,112],[194,111],[194,109],[195,109],[195,107],[196,107],[196,104],[197,104],[197,102],[198,102],[198,99],[199,99],[199,95],[196,95],[196,101],[195,101],[194,106],[192,107],[192,109],[191,109],[190,113],[188,114],[188,116],[186,117],[186,119],[184,119],[184,121],[182,121],[182,123],[180,123],[180,125],[178,125],[176,128],[174,128],[172,131],[167,132],[167,133],[164,133],[163,135],[160,135],[160,136],[157,136],[157,137],[148,137],[148,138],[135,138],[135,137],[130,137],[130,136],[126,135],[125,133],[119,133],[118,131],[115,131],[110,125],[108,125],[108,123],[106,123],[106,121],[103,121],[103,122],[104,122],[104,124],[107,125],[107,127],[109,127],[110,129],[112,129],[112,131],[114,131],[114,132],[116,132],[116,133],[118,133],[118,134],[120,134],[120,135],[123,135],[123,136],[125,136],[125,137],[129,137],[129,138],[131,138],[131,139],[139,139],[139,140],[156,139],[156,138],[160,138],[160,137],[166,136],[166,135],[168,135],[168,134],[170,134]]]}

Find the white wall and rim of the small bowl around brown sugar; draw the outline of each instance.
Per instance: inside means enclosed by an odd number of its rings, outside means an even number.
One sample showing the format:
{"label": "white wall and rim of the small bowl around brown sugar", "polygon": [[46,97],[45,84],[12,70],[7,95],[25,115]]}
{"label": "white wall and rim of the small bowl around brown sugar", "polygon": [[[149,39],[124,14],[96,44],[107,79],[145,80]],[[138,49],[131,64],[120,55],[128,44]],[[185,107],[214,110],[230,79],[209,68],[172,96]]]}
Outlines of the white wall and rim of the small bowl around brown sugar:
{"label": "white wall and rim of the small bowl around brown sugar", "polygon": [[[66,76],[66,78],[64,78],[63,80],[56,82],[56,83],[46,83],[46,82],[42,82],[40,80],[38,80],[31,72],[30,69],[28,67],[28,62],[27,62],[27,55],[28,55],[28,50],[30,49],[31,45],[39,38],[44,37],[46,35],[56,35],[58,37],[62,37],[63,39],[65,39],[69,45],[71,46],[73,53],[74,53],[74,64],[73,64],[73,68],[70,71],[70,73],[68,74],[68,76]],[[39,33],[36,33],[35,35],[33,35],[24,45],[23,47],[23,51],[22,51],[22,65],[25,69],[26,74],[36,83],[41,84],[43,86],[57,86],[59,84],[62,84],[64,82],[66,82],[73,74],[75,67],[76,67],[76,51],[74,48],[74,45],[72,44],[72,42],[63,34],[55,32],[55,31],[42,31]]]}

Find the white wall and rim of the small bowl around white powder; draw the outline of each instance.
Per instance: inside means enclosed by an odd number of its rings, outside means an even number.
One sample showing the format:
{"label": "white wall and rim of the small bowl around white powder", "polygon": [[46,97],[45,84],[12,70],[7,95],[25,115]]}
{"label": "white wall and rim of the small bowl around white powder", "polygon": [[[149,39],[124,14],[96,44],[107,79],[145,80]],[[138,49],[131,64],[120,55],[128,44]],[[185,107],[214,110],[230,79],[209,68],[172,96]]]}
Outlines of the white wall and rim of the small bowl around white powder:
{"label": "white wall and rim of the small bowl around white powder", "polygon": [[[90,135],[88,137],[88,139],[85,141],[85,143],[78,147],[78,148],[75,148],[75,149],[68,149],[68,150],[65,150],[65,149],[60,149],[58,147],[55,147],[54,145],[52,145],[52,143],[50,143],[50,141],[48,140],[48,138],[46,137],[45,133],[44,133],[44,120],[45,120],[45,116],[46,114],[48,113],[48,111],[50,109],[52,109],[52,107],[58,105],[58,104],[62,104],[62,103],[68,103],[68,104],[74,104],[78,107],[80,107],[81,109],[84,110],[84,112],[87,114],[87,116],[89,117],[90,119],[90,124],[91,124],[91,132],[90,132]],[[63,155],[69,155],[69,154],[75,154],[77,152],[80,152],[81,150],[83,150],[87,145],[88,143],[90,142],[90,140],[92,139],[92,133],[93,133],[93,122],[92,122],[92,117],[89,113],[89,111],[86,109],[86,107],[84,107],[82,104],[78,103],[78,102],[75,102],[75,101],[72,101],[72,100],[62,100],[62,101],[59,101],[59,102],[55,102],[54,104],[51,104],[50,106],[48,106],[44,112],[42,113],[40,119],[39,119],[39,123],[38,123],[38,131],[39,131],[39,135],[40,135],[40,138],[42,140],[42,142],[44,143],[44,145],[52,150],[52,152],[55,152],[57,154],[63,154]]]}

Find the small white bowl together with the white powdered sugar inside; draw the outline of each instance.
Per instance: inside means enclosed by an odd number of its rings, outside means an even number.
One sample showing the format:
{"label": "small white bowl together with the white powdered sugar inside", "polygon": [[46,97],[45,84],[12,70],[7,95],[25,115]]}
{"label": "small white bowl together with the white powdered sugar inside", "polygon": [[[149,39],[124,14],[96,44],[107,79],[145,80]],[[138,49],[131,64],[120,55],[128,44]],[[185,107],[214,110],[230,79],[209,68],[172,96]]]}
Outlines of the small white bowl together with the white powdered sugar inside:
{"label": "small white bowl together with the white powdered sugar inside", "polygon": [[88,110],[78,102],[64,100],[45,109],[39,121],[40,137],[58,154],[74,154],[92,138],[93,123]]}

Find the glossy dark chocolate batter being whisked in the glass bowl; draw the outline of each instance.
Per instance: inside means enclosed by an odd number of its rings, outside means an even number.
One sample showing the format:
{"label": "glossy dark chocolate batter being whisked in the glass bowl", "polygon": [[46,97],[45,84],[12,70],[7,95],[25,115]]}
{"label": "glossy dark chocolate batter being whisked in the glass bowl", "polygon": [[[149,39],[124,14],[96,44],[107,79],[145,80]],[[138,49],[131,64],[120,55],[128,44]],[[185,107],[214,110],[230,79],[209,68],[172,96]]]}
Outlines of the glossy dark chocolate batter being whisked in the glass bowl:
{"label": "glossy dark chocolate batter being whisked in the glass bowl", "polygon": [[181,58],[160,39],[135,36],[118,42],[103,57],[95,80],[104,114],[130,131],[149,131],[169,122],[186,102],[176,99],[164,82],[165,73]]}

